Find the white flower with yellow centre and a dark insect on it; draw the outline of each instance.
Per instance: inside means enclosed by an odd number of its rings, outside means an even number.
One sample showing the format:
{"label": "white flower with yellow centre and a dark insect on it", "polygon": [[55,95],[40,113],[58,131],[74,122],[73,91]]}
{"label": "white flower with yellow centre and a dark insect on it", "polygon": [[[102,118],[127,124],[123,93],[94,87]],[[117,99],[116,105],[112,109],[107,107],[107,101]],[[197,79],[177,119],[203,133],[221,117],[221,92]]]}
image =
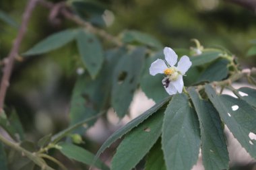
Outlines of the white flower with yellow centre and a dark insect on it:
{"label": "white flower with yellow centre and a dark insect on it", "polygon": [[164,48],[165,60],[157,59],[152,62],[150,66],[150,75],[156,75],[158,73],[165,74],[166,77],[162,80],[164,89],[166,89],[169,95],[174,95],[177,92],[181,93],[183,90],[183,75],[189,70],[192,62],[189,60],[188,56],[182,56],[178,62],[177,67],[177,54],[172,50],[172,48]]}

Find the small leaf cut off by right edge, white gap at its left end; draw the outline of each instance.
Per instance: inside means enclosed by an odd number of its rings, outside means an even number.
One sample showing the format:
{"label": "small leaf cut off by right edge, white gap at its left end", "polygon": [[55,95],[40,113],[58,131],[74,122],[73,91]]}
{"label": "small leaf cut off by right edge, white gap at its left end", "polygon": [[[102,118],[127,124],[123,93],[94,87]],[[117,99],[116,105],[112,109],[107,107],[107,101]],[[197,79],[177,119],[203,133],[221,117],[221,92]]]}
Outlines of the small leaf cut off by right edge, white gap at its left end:
{"label": "small leaf cut off by right edge, white gap at its left end", "polygon": [[256,89],[251,89],[249,87],[241,87],[238,91],[243,92],[242,98],[247,101],[250,105],[256,108]]}

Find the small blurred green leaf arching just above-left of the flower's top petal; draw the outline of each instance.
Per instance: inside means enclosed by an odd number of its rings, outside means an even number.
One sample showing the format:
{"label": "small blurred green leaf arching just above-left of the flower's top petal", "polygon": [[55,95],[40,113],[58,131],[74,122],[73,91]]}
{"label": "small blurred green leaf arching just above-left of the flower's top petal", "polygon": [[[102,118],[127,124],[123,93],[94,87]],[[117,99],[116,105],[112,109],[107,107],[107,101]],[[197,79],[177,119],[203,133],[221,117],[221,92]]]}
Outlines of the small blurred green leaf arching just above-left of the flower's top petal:
{"label": "small blurred green leaf arching just above-left of the flower's top petal", "polygon": [[163,48],[162,44],[156,38],[153,38],[149,34],[138,32],[135,30],[123,32],[122,40],[125,43],[138,42],[139,44],[145,44],[157,49]]}

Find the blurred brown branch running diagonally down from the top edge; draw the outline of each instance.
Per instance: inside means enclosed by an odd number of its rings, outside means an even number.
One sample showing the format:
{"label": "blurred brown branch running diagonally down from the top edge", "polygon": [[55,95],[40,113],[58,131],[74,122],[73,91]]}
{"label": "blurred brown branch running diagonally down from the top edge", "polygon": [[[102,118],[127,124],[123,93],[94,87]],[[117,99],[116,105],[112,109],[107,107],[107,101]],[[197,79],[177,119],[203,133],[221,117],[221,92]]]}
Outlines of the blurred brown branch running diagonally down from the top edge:
{"label": "blurred brown branch running diagonally down from the top edge", "polygon": [[[83,26],[84,28],[86,28],[86,30],[89,30],[94,34],[97,34],[98,36],[104,38],[105,40],[108,40],[109,42],[113,42],[113,44],[117,46],[123,46],[123,42],[121,42],[119,38],[112,36],[111,34],[108,34],[106,31],[100,28],[92,26],[90,22],[86,22],[84,21],[84,19],[81,19],[77,15],[73,14],[71,11],[69,11],[69,9],[67,9],[65,3],[61,2],[54,4],[46,0],[38,0],[38,2],[44,7],[51,9],[51,13],[55,13],[55,15],[57,15],[56,11],[59,11],[59,13],[61,13],[65,18],[72,20],[80,26]],[[60,5],[62,5],[62,7],[60,7]]]}

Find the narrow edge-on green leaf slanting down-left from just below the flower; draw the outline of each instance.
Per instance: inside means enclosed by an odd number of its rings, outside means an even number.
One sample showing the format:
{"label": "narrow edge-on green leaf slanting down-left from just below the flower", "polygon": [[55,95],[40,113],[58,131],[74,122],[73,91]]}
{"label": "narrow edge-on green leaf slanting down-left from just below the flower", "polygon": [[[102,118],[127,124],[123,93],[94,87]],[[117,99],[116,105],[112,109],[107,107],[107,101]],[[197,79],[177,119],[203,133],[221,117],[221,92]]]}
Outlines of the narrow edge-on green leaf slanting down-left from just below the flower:
{"label": "narrow edge-on green leaf slanting down-left from just below the flower", "polygon": [[138,126],[139,124],[141,124],[141,122],[143,122],[144,120],[146,120],[148,117],[150,117],[152,114],[154,114],[155,112],[157,112],[160,108],[162,108],[162,106],[170,99],[170,97],[166,97],[165,99],[163,99],[162,101],[160,101],[159,103],[156,103],[156,105],[154,105],[152,108],[150,108],[149,110],[147,110],[146,112],[144,112],[143,114],[141,114],[140,116],[138,116],[137,118],[131,120],[131,122],[128,122],[127,124],[125,124],[125,126],[123,126],[122,128],[120,128],[119,130],[117,130],[115,133],[113,133],[103,144],[102,146],[100,146],[100,149],[98,150],[96,157],[99,157],[100,154],[105,151],[106,148],[108,148],[111,144],[113,144],[113,142],[115,142],[117,139],[121,138],[123,135],[125,135],[127,132],[129,132],[131,129],[133,129],[134,127]]}

